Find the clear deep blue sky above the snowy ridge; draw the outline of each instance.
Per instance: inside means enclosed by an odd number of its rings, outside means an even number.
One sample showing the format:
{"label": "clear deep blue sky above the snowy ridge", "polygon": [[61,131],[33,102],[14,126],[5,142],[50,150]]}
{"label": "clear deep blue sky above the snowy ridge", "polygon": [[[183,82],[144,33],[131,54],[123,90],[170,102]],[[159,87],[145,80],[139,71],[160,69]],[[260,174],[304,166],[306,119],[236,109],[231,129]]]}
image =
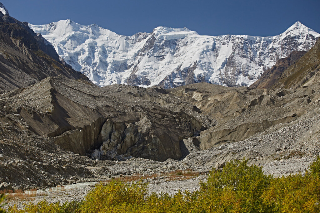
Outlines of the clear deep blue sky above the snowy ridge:
{"label": "clear deep blue sky above the snowy ridge", "polygon": [[188,27],[201,35],[277,35],[294,22],[320,33],[320,0],[0,0],[12,17],[31,24],[71,19],[117,34]]}

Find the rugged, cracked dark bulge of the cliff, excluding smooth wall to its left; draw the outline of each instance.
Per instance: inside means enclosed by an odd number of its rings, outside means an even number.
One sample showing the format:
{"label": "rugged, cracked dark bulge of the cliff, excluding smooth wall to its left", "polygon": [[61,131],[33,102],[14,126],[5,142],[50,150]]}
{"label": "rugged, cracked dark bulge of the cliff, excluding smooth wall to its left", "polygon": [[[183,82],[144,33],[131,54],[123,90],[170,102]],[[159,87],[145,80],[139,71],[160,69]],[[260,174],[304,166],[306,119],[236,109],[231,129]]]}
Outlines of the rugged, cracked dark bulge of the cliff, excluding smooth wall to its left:
{"label": "rugged, cracked dark bulge of the cliff, excluding smooth wall to its left", "polygon": [[[159,113],[159,112],[158,112]],[[180,141],[200,132],[202,124],[180,111],[166,115],[146,111],[137,122],[125,123],[117,118],[108,119],[98,137],[101,155],[108,151],[117,155],[165,161],[180,159]],[[105,151],[105,152],[103,152]],[[102,159],[104,156],[99,156]]]}

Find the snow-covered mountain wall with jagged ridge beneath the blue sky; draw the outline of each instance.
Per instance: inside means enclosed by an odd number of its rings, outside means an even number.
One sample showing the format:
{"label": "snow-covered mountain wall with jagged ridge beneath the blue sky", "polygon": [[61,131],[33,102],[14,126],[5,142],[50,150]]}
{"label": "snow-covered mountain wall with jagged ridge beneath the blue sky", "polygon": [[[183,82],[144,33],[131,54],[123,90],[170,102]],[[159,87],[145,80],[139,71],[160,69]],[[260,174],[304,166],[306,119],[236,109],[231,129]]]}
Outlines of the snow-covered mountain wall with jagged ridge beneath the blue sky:
{"label": "snow-covered mountain wall with jagged ridge beneath the blue sky", "polygon": [[199,35],[188,28],[157,27],[152,33],[118,35],[71,20],[31,25],[60,57],[95,84],[164,88],[196,82],[251,85],[293,50],[309,50],[319,36],[299,21],[270,37]]}

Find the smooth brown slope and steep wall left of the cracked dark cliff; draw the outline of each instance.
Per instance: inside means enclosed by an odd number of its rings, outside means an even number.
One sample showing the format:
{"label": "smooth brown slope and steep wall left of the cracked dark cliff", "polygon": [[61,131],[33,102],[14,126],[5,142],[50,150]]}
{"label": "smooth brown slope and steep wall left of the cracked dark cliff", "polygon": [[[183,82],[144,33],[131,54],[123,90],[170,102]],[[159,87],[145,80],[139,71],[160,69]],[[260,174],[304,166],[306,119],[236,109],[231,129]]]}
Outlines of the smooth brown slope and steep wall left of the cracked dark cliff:
{"label": "smooth brown slope and steep wall left of the cracked dark cliff", "polygon": [[106,120],[99,111],[75,103],[56,91],[52,93],[52,103],[52,112],[20,110],[32,131],[53,137],[62,148],[81,155],[98,146],[97,137]]}

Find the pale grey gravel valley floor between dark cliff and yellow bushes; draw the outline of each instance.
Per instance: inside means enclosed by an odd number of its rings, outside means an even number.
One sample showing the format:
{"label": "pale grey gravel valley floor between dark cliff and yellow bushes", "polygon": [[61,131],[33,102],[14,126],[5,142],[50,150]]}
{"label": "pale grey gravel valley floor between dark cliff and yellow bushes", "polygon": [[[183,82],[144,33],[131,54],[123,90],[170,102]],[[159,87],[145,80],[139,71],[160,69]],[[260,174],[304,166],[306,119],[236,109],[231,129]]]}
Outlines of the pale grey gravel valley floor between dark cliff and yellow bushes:
{"label": "pale grey gravel valley floor between dark cliff and yellow bushes", "polygon": [[200,180],[206,181],[206,174],[212,167],[220,169],[224,163],[243,157],[249,159],[249,164],[262,166],[265,174],[276,177],[304,173],[319,154],[320,140],[316,137],[317,134],[314,134],[316,138],[309,139],[311,143],[305,143],[304,138],[305,133],[319,133],[319,111],[320,108],[315,108],[290,124],[272,126],[249,139],[228,143],[225,147],[200,150],[190,140],[184,140],[188,149],[185,151],[189,153],[180,161],[168,159],[165,162],[157,162],[142,158],[118,162],[94,161],[93,166],[86,166],[94,178],[72,178],[73,180],[68,180],[70,184],[62,187],[10,194],[6,208],[14,204],[22,207],[24,202],[36,203],[43,199],[48,202],[81,200],[95,184],[107,183],[112,178],[124,181],[142,178],[144,182],[148,182],[150,193],[174,194],[178,190],[194,191],[199,189]]}

